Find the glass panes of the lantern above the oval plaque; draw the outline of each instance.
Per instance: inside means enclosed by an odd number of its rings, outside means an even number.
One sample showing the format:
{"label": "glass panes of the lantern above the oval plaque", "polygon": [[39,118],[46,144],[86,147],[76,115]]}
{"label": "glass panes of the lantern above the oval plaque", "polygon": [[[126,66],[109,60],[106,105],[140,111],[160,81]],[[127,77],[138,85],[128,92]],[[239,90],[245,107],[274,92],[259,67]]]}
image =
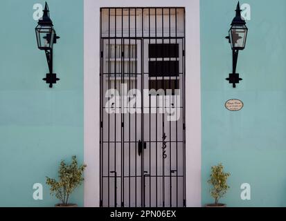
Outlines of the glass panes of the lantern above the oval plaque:
{"label": "glass panes of the lantern above the oval plaque", "polygon": [[229,37],[231,38],[231,48],[238,50],[244,49],[247,39],[247,27],[232,26],[229,30]]}

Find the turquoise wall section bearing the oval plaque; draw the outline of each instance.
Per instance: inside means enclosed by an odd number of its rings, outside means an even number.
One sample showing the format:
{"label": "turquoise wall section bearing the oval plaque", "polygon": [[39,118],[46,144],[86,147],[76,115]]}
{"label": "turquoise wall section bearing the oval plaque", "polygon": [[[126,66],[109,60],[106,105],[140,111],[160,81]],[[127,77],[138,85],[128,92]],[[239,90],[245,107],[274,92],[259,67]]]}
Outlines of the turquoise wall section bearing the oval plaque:
{"label": "turquoise wall section bearing the oval plaque", "polygon": [[[212,202],[206,184],[211,165],[231,173],[229,206],[286,206],[286,1],[247,0],[247,47],[238,57],[237,88],[231,49],[224,39],[237,0],[201,1],[202,53],[202,204]],[[242,111],[224,108],[241,99]],[[251,184],[251,200],[240,199],[240,184]]]}

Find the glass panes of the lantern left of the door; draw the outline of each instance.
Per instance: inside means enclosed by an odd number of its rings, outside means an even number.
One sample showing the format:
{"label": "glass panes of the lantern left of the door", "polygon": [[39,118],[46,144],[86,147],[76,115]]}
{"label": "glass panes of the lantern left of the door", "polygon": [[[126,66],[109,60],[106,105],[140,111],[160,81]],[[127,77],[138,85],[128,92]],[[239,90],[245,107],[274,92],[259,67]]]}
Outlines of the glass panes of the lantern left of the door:
{"label": "glass panes of the lantern left of the door", "polygon": [[53,48],[53,41],[51,39],[55,36],[55,30],[51,26],[39,26],[36,28],[37,44],[41,50],[48,50]]}

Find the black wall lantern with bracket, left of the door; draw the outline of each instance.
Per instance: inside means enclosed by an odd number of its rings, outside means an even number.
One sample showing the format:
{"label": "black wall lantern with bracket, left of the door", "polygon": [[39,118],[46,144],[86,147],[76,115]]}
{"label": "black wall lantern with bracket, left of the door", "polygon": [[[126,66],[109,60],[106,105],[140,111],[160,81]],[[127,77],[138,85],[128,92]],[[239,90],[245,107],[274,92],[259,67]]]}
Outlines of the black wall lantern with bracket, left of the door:
{"label": "black wall lantern with bracket, left of the door", "polygon": [[45,4],[43,10],[43,17],[39,19],[37,27],[35,28],[37,37],[37,46],[39,50],[44,50],[46,53],[46,61],[48,62],[49,73],[43,78],[46,84],[49,84],[50,88],[53,88],[53,84],[56,84],[59,78],[57,74],[53,73],[53,44],[57,43],[58,37],[53,28],[53,21],[50,19],[50,13],[48,10],[48,4]]}

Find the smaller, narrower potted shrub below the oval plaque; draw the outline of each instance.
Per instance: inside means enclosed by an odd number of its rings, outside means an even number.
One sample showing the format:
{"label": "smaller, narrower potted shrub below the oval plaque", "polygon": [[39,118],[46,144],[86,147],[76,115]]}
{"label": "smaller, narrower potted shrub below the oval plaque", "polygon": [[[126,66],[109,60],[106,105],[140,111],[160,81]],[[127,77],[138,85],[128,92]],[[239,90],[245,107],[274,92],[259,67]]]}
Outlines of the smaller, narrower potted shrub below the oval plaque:
{"label": "smaller, narrower potted shrub below the oval plaque", "polygon": [[212,198],[215,200],[215,203],[206,204],[206,207],[226,207],[226,204],[219,203],[219,200],[229,189],[226,181],[230,175],[230,173],[224,173],[224,166],[222,166],[222,164],[217,164],[217,166],[211,167],[211,178],[208,180],[208,183],[213,186],[210,193]]}

